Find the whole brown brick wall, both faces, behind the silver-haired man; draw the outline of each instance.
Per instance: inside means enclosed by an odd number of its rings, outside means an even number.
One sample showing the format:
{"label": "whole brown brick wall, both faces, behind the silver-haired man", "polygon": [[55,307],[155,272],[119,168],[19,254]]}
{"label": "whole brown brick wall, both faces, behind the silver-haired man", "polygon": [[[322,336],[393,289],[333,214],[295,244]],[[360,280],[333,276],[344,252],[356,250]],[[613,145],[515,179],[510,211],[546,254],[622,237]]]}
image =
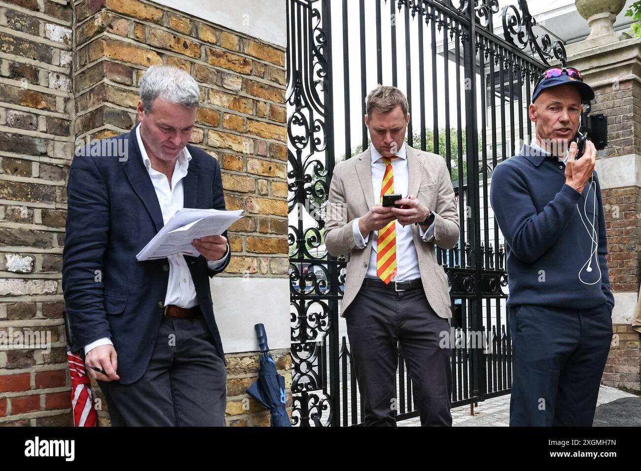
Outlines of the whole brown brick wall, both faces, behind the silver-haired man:
{"label": "whole brown brick wall, both faces, behind the silver-haired man", "polygon": [[[149,65],[187,70],[201,88],[191,142],[221,164],[227,208],[247,215],[219,276],[287,277],[285,51],[136,0],[0,1],[0,36],[0,329],[53,342],[0,351],[0,424],[69,424],[60,269],[74,147],[135,125]],[[289,387],[289,351],[274,354]],[[227,358],[229,424],[269,422],[243,401],[257,354]]]}

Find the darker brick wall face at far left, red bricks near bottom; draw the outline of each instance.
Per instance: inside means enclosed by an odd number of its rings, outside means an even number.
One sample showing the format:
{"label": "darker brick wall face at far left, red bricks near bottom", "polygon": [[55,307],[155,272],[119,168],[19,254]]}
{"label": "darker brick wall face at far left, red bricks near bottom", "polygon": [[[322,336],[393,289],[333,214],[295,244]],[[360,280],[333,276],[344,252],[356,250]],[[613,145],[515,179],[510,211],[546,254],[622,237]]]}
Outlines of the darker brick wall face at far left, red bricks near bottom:
{"label": "darker brick wall face at far left, red bricks near bottom", "polygon": [[71,424],[60,269],[72,13],[67,1],[0,3],[0,330],[51,339],[49,352],[0,350],[0,425]]}

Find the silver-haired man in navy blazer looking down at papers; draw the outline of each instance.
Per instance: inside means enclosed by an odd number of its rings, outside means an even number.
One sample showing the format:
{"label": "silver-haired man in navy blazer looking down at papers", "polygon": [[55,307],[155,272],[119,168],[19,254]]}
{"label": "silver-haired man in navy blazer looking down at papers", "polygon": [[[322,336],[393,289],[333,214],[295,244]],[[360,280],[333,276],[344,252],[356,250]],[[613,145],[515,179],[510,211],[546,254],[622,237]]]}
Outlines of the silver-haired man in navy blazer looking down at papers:
{"label": "silver-haired man in navy blazer looking down at papers", "polygon": [[69,171],[65,305],[114,426],[224,426],[209,281],[229,263],[226,233],[194,240],[197,257],[136,259],[180,208],[225,209],[218,162],[187,145],[199,99],[187,72],[151,67],[140,124],[79,149]]}

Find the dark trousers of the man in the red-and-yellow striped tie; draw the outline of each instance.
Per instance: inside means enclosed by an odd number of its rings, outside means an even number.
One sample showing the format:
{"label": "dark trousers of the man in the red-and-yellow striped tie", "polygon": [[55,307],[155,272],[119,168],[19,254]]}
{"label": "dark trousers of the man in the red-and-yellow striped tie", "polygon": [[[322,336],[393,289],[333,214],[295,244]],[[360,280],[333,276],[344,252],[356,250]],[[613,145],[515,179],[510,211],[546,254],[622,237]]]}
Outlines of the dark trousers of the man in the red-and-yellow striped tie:
{"label": "dark trousers of the man in the red-and-yellow striped tie", "polygon": [[451,350],[440,348],[449,322],[429,306],[422,289],[395,292],[363,285],[345,313],[365,426],[396,426],[397,342],[413,384],[422,426],[451,426]]}

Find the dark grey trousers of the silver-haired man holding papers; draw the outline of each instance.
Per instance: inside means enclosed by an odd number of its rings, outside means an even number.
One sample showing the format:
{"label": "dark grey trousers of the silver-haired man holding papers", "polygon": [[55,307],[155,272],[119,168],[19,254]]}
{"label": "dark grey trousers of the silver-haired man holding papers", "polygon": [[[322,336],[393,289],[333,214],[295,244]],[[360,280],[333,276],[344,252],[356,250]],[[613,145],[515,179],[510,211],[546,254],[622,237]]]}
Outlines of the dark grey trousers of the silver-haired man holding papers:
{"label": "dark grey trousers of the silver-haired man holding papers", "polygon": [[227,372],[202,316],[163,316],[143,376],[98,383],[112,426],[225,426]]}

